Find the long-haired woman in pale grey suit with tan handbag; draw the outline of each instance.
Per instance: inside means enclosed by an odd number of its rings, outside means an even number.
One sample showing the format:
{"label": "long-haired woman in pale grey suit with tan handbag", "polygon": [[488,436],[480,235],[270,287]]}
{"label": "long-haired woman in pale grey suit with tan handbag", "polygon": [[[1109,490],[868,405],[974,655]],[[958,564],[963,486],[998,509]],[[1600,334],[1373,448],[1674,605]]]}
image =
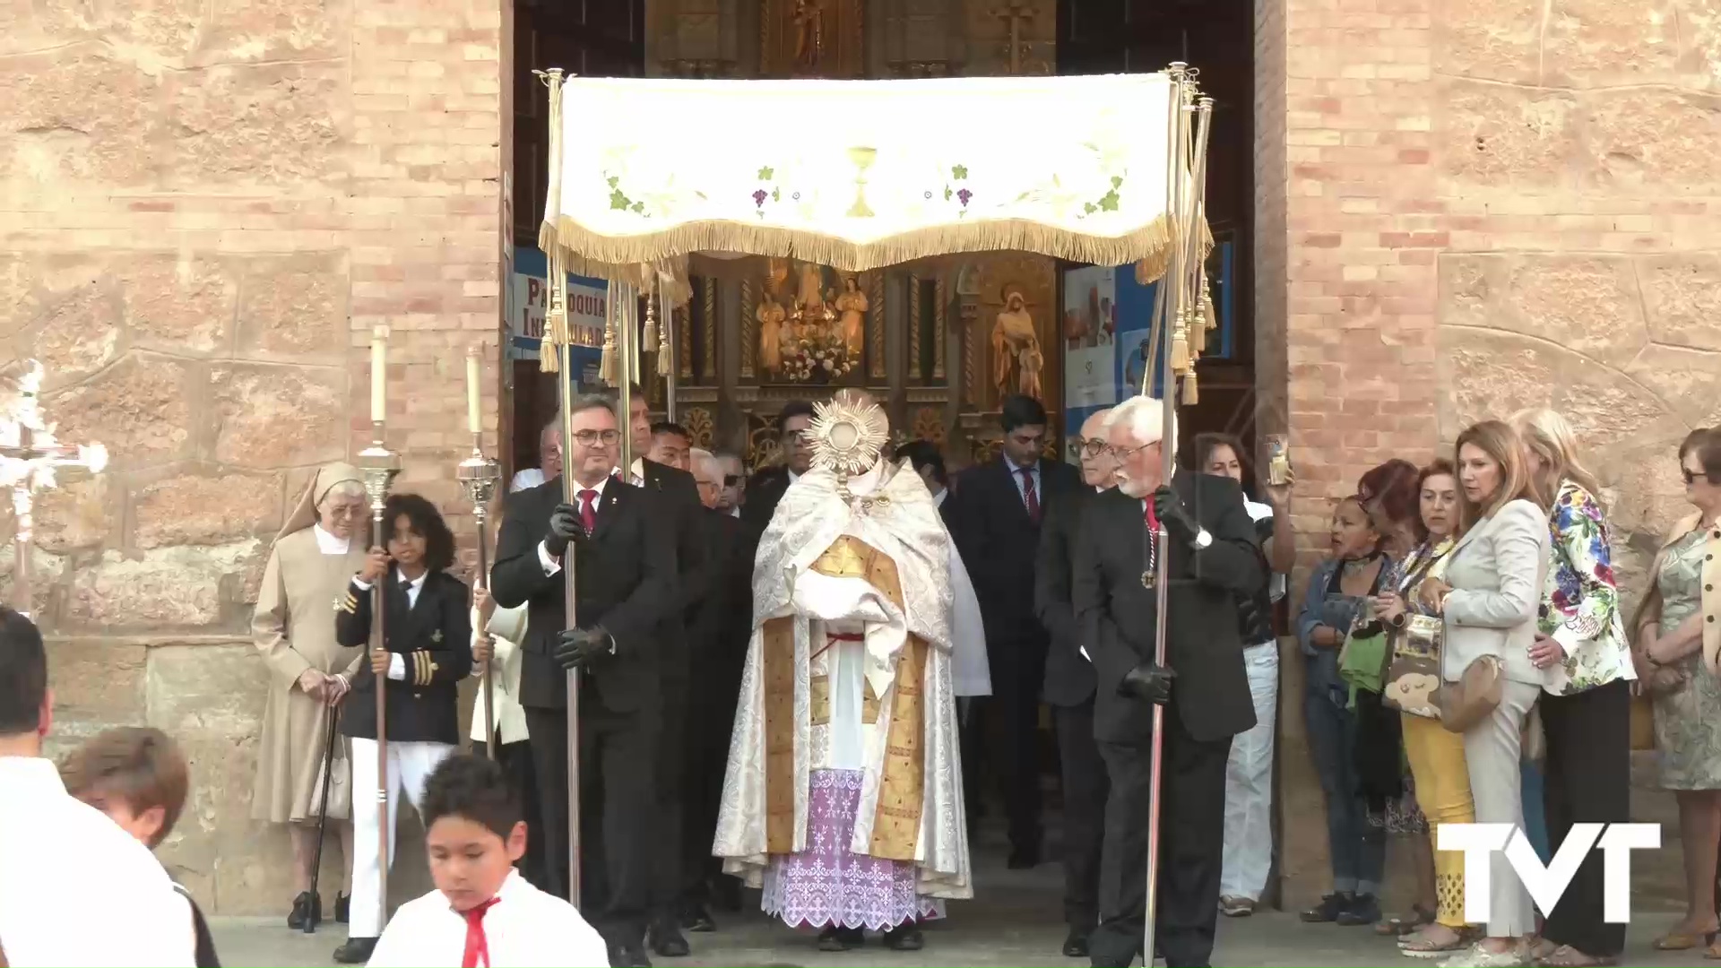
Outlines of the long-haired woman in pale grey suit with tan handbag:
{"label": "long-haired woman in pale grey suit with tan handbag", "polygon": [[[1521,837],[1521,735],[1547,682],[1547,672],[1530,658],[1547,579],[1547,515],[1535,503],[1518,434],[1499,420],[1475,424],[1458,436],[1458,484],[1461,532],[1446,582],[1423,582],[1422,596],[1446,620],[1440,653],[1446,682],[1458,682],[1485,656],[1499,663],[1501,701],[1465,730],[1465,761],[1477,823],[1511,823],[1520,830],[1513,835]],[[1487,937],[1446,961],[1447,968],[1530,963],[1527,939],[1535,930],[1530,894],[1504,851],[1490,863]]]}

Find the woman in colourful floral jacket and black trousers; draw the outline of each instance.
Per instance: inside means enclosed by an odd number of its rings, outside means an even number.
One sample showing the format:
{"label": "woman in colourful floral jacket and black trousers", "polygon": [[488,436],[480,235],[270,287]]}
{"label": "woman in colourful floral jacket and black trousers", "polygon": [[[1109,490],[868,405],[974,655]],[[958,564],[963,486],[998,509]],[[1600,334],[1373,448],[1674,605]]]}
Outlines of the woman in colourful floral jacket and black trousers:
{"label": "woman in colourful floral jacket and black trousers", "polygon": [[[1619,615],[1607,517],[1595,477],[1578,463],[1571,427],[1552,410],[1513,417],[1537,501],[1547,510],[1552,560],[1530,658],[1549,670],[1539,703],[1547,737],[1544,811],[1551,844],[1573,823],[1630,816],[1632,692],[1637,679]],[[1592,851],[1559,904],[1547,911],[1537,961],[1614,965],[1625,925],[1602,920],[1602,858]]]}

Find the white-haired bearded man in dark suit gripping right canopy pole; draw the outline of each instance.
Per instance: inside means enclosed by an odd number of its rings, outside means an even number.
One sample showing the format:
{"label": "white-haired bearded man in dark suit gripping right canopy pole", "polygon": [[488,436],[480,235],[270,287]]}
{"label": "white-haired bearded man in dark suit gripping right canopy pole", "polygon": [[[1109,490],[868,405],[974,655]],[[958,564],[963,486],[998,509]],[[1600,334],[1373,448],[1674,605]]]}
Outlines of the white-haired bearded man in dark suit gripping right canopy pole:
{"label": "white-haired bearded man in dark suit gripping right canopy pole", "polygon": [[[1237,632],[1239,593],[1267,579],[1236,481],[1177,474],[1163,482],[1160,401],[1136,396],[1107,431],[1119,486],[1093,498],[1076,539],[1070,601],[1095,668],[1095,735],[1112,791],[1100,861],[1093,968],[1124,968],[1143,947],[1153,706],[1162,737],[1158,921],[1167,968],[1206,968],[1218,920],[1231,737],[1255,725]],[[1157,551],[1167,532],[1167,649],[1155,663]],[[1157,579],[1155,579],[1157,582]],[[1151,954],[1148,954],[1151,958]]]}

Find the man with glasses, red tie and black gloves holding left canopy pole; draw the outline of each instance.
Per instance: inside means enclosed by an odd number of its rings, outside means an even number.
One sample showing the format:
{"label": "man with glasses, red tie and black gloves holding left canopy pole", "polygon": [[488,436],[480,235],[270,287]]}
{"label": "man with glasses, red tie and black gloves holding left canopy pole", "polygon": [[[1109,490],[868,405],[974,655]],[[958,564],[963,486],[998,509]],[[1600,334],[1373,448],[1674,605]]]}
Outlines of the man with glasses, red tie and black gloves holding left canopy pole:
{"label": "man with glasses, red tie and black gloves holding left canopy pole", "polygon": [[[552,890],[568,894],[568,691],[580,675],[582,908],[616,968],[649,968],[663,617],[680,594],[673,522],[649,491],[611,477],[621,434],[601,396],[570,401],[564,474],[508,501],[490,594],[527,603],[520,704],[537,765]],[[575,622],[563,610],[573,555]],[[566,630],[564,630],[566,629]]]}

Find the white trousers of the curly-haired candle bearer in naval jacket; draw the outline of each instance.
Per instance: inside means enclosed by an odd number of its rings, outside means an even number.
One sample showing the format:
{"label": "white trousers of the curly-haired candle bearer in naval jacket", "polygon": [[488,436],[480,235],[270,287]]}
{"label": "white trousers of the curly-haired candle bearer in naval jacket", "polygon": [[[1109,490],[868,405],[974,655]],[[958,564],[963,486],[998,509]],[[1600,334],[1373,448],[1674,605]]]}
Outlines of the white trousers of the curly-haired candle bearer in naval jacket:
{"label": "white trousers of the curly-haired candle bearer in naval jacket", "polygon": [[[454,753],[446,742],[389,742],[389,866],[394,866],[394,823],[401,792],[420,810],[430,772]],[[377,858],[377,741],[353,741],[353,901],[348,937],[382,935],[382,868]]]}

